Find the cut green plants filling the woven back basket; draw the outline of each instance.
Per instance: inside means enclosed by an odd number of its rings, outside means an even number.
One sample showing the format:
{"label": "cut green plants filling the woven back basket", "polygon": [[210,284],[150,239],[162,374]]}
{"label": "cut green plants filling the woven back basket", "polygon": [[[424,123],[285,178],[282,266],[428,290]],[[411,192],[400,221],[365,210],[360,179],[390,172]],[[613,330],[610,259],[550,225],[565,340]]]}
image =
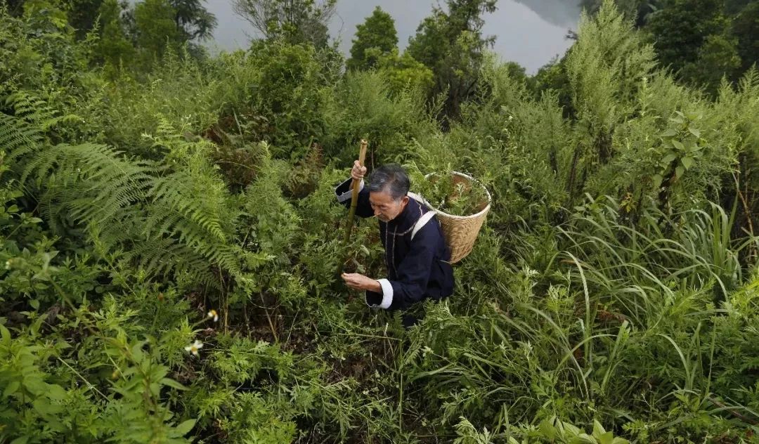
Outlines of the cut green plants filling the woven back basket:
{"label": "cut green plants filling the woven back basket", "polygon": [[442,172],[424,175],[415,164],[406,165],[412,190],[427,200],[435,209],[454,216],[479,213],[487,206],[485,188],[448,165]]}

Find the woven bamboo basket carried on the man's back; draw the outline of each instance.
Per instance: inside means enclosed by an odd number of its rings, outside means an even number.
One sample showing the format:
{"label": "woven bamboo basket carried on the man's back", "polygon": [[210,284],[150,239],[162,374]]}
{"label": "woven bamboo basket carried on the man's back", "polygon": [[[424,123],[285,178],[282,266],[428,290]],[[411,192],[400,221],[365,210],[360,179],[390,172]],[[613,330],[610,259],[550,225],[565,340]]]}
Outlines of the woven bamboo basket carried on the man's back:
{"label": "woven bamboo basket carried on the man's back", "polygon": [[[426,177],[430,178],[431,175],[433,175],[433,173]],[[470,175],[465,175],[461,172],[452,172],[452,175],[454,184],[464,183],[465,187],[483,187],[482,184],[477,182]],[[480,210],[469,216],[455,216],[436,209],[427,201],[427,199],[420,196],[424,204],[435,211],[437,219],[440,221],[442,235],[445,236],[446,244],[448,244],[448,247],[451,249],[451,263],[457,263],[471,253],[472,247],[474,247],[474,241],[477,240],[477,234],[479,234],[480,228],[482,228],[482,224],[487,218],[487,213],[490,211],[491,197],[490,191],[487,191],[486,187],[483,187],[483,190],[485,190],[485,194],[487,195],[487,201],[480,203]],[[416,196],[418,195],[414,195],[414,197]]]}

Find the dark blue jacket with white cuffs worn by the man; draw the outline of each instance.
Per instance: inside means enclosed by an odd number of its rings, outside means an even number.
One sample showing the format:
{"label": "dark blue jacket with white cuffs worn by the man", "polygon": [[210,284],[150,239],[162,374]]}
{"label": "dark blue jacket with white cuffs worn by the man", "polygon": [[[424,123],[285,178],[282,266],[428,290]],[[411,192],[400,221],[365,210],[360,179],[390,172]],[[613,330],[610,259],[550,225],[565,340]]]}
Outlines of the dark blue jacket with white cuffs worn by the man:
{"label": "dark blue jacket with white cuffs worn by the man", "polygon": [[[338,201],[351,206],[351,179],[335,188]],[[409,197],[405,209],[390,222],[379,221],[379,238],[385,247],[387,279],[377,279],[382,294],[367,291],[367,304],[389,309],[405,309],[424,298],[436,300],[453,293],[451,252],[442,237],[436,217],[430,219],[411,239],[414,224],[428,211],[423,203]],[[356,215],[374,216],[369,191],[361,182]]]}

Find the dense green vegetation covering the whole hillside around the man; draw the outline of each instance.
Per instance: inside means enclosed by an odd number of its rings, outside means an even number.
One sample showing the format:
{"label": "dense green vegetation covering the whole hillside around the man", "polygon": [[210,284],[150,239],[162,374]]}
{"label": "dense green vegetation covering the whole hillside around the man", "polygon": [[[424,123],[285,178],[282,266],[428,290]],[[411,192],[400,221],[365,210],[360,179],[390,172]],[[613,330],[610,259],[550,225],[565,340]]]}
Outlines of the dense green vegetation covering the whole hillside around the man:
{"label": "dense green vegetation covering the whole hillside around the man", "polygon": [[[201,2],[2,3],[0,442],[757,442],[757,2],[665,51],[688,1],[607,0],[534,77],[496,2],[403,54],[375,11],[347,71],[334,2],[238,3],[270,32],[214,57]],[[383,273],[332,191],[362,137],[493,195],[411,329],[338,276]]]}

